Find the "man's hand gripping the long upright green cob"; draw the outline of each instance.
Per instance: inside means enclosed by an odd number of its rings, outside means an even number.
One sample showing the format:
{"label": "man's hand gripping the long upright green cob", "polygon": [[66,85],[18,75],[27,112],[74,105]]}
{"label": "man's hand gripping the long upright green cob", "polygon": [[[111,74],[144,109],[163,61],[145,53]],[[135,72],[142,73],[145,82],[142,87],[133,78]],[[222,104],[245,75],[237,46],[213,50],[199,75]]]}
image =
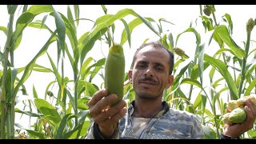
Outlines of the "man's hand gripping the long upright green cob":
{"label": "man's hand gripping the long upright green cob", "polygon": [[118,99],[116,94],[108,94],[107,90],[98,90],[88,102],[89,114],[98,124],[104,138],[111,138],[117,130],[117,124],[126,114],[126,102],[121,100],[114,106],[111,103]]}

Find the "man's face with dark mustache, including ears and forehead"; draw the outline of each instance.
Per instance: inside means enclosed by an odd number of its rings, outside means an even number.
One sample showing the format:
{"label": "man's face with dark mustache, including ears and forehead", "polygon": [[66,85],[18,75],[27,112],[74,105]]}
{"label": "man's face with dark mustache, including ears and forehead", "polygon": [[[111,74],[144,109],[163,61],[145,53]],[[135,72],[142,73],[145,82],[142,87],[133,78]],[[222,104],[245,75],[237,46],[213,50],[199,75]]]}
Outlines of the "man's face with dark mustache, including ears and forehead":
{"label": "man's face with dark mustache, including ears and forehead", "polygon": [[146,46],[138,51],[134,68],[129,78],[138,98],[162,98],[162,92],[169,88],[173,76],[169,74],[170,55],[162,48]]}

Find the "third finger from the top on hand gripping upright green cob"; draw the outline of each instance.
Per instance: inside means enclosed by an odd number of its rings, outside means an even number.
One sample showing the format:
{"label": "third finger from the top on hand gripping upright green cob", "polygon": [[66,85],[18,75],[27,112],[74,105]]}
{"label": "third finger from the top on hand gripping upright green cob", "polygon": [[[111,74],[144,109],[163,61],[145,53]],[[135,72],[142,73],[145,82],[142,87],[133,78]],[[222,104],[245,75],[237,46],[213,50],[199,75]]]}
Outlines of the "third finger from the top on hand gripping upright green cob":
{"label": "third finger from the top on hand gripping upright green cob", "polygon": [[118,102],[116,105],[111,106],[107,110],[104,110],[102,112],[102,114],[98,114],[98,116],[96,118],[94,118],[94,122],[100,123],[102,121],[106,121],[106,120],[110,119],[115,114],[118,114],[120,112],[120,110],[122,110],[122,108],[125,106],[126,106],[125,101],[122,100],[122,101]]}

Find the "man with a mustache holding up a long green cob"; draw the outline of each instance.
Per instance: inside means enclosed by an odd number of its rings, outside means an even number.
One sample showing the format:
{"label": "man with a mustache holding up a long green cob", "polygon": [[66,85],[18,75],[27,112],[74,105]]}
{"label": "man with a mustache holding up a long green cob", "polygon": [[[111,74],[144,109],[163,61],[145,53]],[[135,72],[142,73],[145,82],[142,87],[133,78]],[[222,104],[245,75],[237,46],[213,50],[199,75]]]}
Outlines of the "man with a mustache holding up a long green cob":
{"label": "man with a mustache holding up a long green cob", "polygon": [[[158,42],[142,45],[134,54],[132,70],[128,76],[135,91],[135,100],[126,110],[126,102],[110,104],[116,94],[99,90],[88,102],[91,126],[86,138],[191,138],[202,139],[201,123],[194,114],[170,109],[162,101],[174,77],[174,55]],[[238,138],[254,124],[256,106],[246,101],[246,122],[228,126],[222,138]]]}

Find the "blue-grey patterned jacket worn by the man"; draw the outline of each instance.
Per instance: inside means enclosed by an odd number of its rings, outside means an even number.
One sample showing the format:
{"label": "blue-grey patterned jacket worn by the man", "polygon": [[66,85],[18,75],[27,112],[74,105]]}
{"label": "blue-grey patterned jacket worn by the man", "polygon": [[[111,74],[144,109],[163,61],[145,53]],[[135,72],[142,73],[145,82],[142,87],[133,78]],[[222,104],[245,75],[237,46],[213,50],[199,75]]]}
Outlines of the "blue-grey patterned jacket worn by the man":
{"label": "blue-grey patterned jacket worn by the man", "polygon": [[[194,114],[174,110],[166,102],[162,102],[163,110],[150,119],[146,128],[138,138],[132,128],[131,115],[134,112],[134,101],[130,102],[126,116],[118,124],[118,131],[113,138],[123,139],[203,139],[202,125]],[[96,127],[96,128],[95,128]],[[97,126],[91,122],[86,138],[103,138]]]}

